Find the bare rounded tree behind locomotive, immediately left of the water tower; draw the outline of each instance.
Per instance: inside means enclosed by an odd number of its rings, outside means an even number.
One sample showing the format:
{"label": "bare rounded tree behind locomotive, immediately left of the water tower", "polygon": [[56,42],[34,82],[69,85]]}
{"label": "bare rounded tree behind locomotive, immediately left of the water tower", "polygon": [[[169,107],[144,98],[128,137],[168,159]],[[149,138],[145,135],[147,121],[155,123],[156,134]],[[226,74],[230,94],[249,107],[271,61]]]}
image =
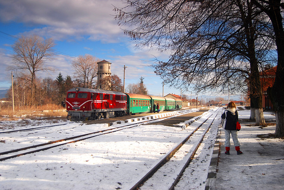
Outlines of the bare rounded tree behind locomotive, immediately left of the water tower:
{"label": "bare rounded tree behind locomotive, immediately left of the water tower", "polygon": [[72,62],[75,79],[84,88],[92,88],[97,76],[97,62],[100,60],[91,55],[79,56]]}

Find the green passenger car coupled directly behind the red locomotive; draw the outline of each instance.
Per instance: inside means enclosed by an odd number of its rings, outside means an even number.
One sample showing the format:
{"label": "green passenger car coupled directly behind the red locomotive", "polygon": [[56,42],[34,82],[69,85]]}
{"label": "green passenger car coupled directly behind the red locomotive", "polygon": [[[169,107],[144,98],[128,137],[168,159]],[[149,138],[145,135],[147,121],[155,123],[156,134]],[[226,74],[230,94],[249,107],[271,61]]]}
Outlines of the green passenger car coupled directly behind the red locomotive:
{"label": "green passenger car coupled directly behind the red locomotive", "polygon": [[126,114],[132,115],[141,112],[150,112],[151,97],[141,94],[125,93],[127,96]]}

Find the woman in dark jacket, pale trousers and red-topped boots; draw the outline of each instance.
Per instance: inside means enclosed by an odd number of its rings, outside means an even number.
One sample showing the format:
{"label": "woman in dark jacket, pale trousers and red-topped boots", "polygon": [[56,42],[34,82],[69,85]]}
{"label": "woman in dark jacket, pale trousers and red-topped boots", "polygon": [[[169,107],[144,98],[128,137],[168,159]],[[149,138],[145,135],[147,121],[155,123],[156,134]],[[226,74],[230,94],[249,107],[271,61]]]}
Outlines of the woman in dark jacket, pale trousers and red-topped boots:
{"label": "woman in dark jacket, pale trousers and red-topped boots", "polygon": [[240,143],[238,141],[237,134],[237,122],[238,122],[238,111],[236,110],[236,104],[234,102],[228,103],[227,108],[223,112],[221,118],[224,119],[222,127],[225,130],[225,147],[226,155],[230,155],[230,136],[232,135],[232,139],[234,141],[235,149],[237,151],[237,155],[241,155],[242,151],[240,151]]}

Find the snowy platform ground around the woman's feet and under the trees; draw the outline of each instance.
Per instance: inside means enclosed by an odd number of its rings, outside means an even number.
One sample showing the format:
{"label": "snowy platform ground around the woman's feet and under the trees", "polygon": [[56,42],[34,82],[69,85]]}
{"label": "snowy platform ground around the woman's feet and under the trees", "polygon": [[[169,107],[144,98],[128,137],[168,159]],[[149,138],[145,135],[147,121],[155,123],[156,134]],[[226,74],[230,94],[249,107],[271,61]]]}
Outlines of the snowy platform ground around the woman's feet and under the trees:
{"label": "snowy platform ground around the woman's feet and under the trees", "polygon": [[[239,111],[242,119],[250,117],[250,111]],[[275,120],[271,112],[265,112],[267,120]],[[277,190],[284,186],[284,139],[265,138],[275,133],[275,125],[260,128],[253,123],[241,123],[238,139],[242,155],[237,155],[231,139],[230,155],[225,155],[224,131],[221,130],[221,155],[217,178],[210,189],[258,189]],[[264,138],[257,137],[264,135]]]}

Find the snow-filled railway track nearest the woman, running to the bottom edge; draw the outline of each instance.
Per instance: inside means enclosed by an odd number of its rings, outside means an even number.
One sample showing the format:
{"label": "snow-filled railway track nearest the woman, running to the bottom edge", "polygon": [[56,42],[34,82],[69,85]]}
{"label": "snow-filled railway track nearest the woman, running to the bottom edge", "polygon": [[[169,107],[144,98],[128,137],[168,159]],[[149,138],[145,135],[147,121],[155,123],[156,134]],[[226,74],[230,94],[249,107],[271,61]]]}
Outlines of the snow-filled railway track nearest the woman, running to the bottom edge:
{"label": "snow-filled railway track nearest the woman, running to the bottom edge", "polygon": [[[196,125],[195,129],[185,139],[167,153],[130,189],[174,189],[186,168],[190,167],[196,151],[204,137],[208,135],[212,124],[220,123],[217,118],[220,118],[221,112],[222,109],[217,109],[208,118],[201,119],[202,123]],[[201,120],[198,121],[201,122]],[[217,129],[215,131],[217,132]]]}

